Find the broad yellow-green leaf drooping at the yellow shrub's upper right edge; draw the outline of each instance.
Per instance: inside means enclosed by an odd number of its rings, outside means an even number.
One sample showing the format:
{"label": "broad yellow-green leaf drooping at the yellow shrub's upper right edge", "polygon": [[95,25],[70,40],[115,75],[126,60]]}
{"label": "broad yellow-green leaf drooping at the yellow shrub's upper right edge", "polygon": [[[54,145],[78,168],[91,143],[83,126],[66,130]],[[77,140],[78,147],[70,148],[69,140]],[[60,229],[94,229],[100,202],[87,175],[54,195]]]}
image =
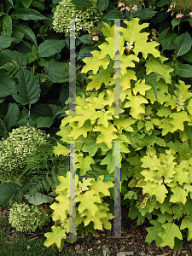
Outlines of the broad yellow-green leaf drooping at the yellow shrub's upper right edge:
{"label": "broad yellow-green leaf drooping at the yellow shrub's upper right edge", "polygon": [[[160,56],[160,61],[166,61],[166,58]],[[161,64],[160,61],[155,59],[153,56],[148,57],[146,61],[146,74],[149,73],[159,73],[161,76],[163,76],[166,80],[166,84],[172,83],[172,77],[170,73],[173,71],[172,67],[169,67],[165,64]]]}

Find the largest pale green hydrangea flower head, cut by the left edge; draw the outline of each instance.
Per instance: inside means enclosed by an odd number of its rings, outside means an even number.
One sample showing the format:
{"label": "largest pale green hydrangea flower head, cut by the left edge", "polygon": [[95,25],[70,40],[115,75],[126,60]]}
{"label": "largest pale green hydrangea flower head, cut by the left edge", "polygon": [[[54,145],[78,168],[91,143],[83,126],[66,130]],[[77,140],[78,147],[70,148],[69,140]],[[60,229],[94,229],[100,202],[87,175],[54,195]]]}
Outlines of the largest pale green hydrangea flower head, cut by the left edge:
{"label": "largest pale green hydrangea flower head, cut by the left edge", "polygon": [[13,129],[9,137],[0,141],[0,181],[15,182],[20,176],[20,169],[25,167],[25,160],[41,145],[48,143],[44,131],[26,125]]}

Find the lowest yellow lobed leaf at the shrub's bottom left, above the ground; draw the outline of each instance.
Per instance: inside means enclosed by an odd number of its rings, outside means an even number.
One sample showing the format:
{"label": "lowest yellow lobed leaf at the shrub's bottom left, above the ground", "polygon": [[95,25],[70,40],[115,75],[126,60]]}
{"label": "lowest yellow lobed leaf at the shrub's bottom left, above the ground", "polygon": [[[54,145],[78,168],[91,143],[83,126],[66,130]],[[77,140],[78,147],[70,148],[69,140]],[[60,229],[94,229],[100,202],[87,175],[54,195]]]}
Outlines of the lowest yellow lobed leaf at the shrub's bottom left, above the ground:
{"label": "lowest yellow lobed leaf at the shrub's bottom left, above the ground", "polygon": [[61,228],[61,226],[52,226],[53,232],[47,232],[44,234],[44,236],[47,238],[44,241],[44,246],[49,247],[53,244],[55,244],[59,249],[63,247],[62,245],[62,238],[67,236],[66,229]]}

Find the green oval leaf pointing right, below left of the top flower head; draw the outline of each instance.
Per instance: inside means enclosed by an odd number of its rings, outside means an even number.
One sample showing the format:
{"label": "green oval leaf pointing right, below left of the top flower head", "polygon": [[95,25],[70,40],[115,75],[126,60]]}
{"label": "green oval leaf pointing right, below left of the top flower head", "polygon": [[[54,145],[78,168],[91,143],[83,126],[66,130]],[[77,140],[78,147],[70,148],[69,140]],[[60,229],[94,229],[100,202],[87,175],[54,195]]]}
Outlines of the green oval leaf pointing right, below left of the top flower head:
{"label": "green oval leaf pointing right, below left of the top flower head", "polygon": [[41,58],[49,57],[59,53],[65,46],[64,40],[45,40],[38,46],[38,55]]}

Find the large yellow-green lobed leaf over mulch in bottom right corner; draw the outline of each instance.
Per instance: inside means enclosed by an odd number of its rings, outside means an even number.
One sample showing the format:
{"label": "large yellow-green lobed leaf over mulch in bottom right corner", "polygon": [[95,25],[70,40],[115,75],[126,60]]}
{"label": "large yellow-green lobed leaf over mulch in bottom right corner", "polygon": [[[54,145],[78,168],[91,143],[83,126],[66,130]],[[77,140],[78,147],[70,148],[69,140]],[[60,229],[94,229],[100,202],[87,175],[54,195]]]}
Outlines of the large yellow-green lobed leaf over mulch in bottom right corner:
{"label": "large yellow-green lobed leaf over mulch in bottom right corner", "polygon": [[175,245],[175,237],[183,240],[183,236],[179,227],[174,223],[162,224],[163,231],[159,232],[157,235],[161,237],[160,247],[169,246],[173,249]]}

